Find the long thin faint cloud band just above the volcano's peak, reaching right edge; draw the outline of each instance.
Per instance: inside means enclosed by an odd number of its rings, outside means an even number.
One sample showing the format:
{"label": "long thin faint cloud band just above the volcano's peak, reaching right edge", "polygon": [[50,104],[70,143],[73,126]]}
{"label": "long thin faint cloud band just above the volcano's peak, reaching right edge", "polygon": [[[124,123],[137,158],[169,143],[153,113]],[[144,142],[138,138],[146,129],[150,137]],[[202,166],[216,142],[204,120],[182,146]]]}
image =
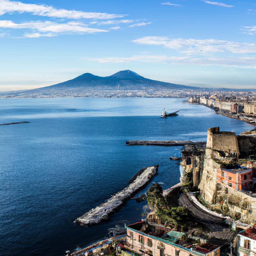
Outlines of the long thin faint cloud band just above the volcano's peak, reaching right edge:
{"label": "long thin faint cloud band just above the volcano's peak, reaching right edge", "polygon": [[256,68],[256,57],[195,58],[192,56],[134,55],[132,57],[84,58],[100,63],[124,63],[132,61],[163,62],[179,65],[206,65],[223,67]]}

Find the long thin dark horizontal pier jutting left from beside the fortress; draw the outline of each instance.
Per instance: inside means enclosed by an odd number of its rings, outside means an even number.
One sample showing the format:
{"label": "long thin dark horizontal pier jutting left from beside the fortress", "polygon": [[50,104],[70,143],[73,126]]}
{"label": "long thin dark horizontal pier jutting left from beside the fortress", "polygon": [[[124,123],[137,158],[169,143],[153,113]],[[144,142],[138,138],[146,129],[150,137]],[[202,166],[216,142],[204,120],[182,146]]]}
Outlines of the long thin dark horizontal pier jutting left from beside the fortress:
{"label": "long thin dark horizontal pier jutting left from beside the fortress", "polygon": [[185,145],[206,145],[206,141],[191,141],[191,140],[128,140],[128,146],[185,146]]}

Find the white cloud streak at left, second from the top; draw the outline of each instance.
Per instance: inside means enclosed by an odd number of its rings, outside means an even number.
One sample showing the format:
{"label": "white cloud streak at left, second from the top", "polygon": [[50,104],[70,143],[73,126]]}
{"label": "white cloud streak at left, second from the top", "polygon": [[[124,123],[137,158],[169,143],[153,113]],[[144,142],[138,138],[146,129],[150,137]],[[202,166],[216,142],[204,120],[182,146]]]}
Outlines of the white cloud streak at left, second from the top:
{"label": "white cloud streak at left, second from the top", "polygon": [[[98,29],[98,28],[88,28],[83,22],[70,21],[67,23],[56,23],[52,21],[30,21],[24,23],[14,23],[11,20],[0,20],[0,28],[30,28],[36,30],[36,33],[25,34],[25,37],[39,37],[39,36],[56,36],[60,33],[97,33],[97,32],[108,32],[108,30]],[[43,32],[46,34],[41,34],[38,32]],[[47,34],[48,33],[48,34]],[[52,34],[49,34],[52,33]]]}

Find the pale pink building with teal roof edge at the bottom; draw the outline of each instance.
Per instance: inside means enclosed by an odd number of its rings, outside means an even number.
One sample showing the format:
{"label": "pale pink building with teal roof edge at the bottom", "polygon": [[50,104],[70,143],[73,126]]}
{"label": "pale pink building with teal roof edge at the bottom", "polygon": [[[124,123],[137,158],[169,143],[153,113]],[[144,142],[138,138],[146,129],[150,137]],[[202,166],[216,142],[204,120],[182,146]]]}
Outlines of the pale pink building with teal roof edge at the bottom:
{"label": "pale pink building with teal roof edge at the bottom", "polygon": [[220,256],[220,247],[213,244],[191,244],[186,247],[175,244],[184,233],[148,224],[144,221],[125,225],[125,248],[144,256]]}

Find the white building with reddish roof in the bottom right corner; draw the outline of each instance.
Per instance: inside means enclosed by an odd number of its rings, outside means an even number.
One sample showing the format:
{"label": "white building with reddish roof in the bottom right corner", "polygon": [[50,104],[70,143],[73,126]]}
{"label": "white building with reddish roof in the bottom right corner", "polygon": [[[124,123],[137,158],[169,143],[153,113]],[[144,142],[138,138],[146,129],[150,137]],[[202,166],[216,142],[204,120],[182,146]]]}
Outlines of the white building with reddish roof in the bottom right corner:
{"label": "white building with reddish roof in the bottom right corner", "polygon": [[256,255],[256,229],[248,228],[237,234],[235,238],[237,256]]}

